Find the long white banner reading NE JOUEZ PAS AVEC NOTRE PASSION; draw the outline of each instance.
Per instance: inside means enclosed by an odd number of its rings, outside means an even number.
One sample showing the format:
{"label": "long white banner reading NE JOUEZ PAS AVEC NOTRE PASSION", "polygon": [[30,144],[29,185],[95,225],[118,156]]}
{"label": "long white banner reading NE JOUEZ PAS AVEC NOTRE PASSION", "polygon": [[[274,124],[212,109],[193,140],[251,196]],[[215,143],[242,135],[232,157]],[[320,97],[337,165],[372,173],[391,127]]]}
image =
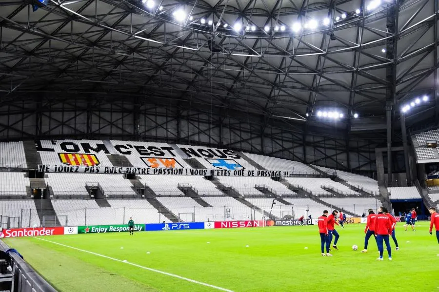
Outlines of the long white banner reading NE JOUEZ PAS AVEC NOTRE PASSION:
{"label": "long white banner reading NE JOUEZ PAS AVEC NOTRE PASSION", "polygon": [[[160,168],[160,167],[119,167],[119,166],[83,166],[83,165],[38,165],[39,172],[78,173],[78,174],[139,174],[139,175],[196,175],[196,176],[252,176],[281,177],[290,176],[288,171],[269,170],[226,170],[194,168]],[[291,174],[293,174],[291,172]]]}

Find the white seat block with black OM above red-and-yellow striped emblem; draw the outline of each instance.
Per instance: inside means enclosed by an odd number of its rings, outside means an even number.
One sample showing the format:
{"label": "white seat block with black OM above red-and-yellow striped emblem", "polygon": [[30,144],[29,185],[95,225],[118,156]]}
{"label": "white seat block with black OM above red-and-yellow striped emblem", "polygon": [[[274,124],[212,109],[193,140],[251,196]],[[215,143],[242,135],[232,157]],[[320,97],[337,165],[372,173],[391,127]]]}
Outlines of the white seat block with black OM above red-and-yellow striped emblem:
{"label": "white seat block with black OM above red-and-yellow striped emblem", "polygon": [[[60,154],[62,153],[76,153],[76,154],[87,154],[84,149],[82,148],[81,143],[87,143],[90,144],[90,147],[92,148],[96,148],[96,144],[103,144],[102,141],[100,140],[56,140],[54,143],[52,143],[52,141],[49,140],[41,140],[41,147],[42,148],[49,148],[49,149],[54,149],[55,152],[51,152],[51,151],[39,151],[40,153],[40,157],[41,157],[41,163],[42,164],[53,164],[53,165],[60,165],[63,164],[63,162],[61,161],[60,158]],[[65,149],[62,149],[60,144],[63,142],[69,142],[69,143],[74,143],[75,145],[78,146],[79,148],[79,152],[73,152],[73,151],[66,151]],[[71,146],[69,146],[69,148],[67,149],[73,149]],[[111,164],[110,160],[108,159],[107,155],[104,151],[99,151],[98,153],[94,152],[93,150],[89,151],[90,153],[88,154],[92,154],[95,155],[96,158],[99,161],[99,165],[101,166],[112,166],[113,164]],[[85,160],[85,162],[87,162]],[[81,160],[77,160],[76,164],[75,163],[71,163],[71,165],[77,165],[77,164],[82,164]],[[66,164],[69,164],[68,162],[66,162]]]}

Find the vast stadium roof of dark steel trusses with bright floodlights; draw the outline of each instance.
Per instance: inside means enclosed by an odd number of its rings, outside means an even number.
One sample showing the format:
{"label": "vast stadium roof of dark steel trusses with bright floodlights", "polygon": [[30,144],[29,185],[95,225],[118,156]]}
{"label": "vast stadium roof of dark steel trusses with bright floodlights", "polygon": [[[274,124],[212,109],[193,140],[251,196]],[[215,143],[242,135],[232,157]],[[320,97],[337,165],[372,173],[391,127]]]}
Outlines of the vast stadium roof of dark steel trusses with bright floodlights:
{"label": "vast stadium roof of dark steel trusses with bright floodlights", "polygon": [[48,0],[33,11],[36,2],[0,2],[1,101],[136,96],[292,125],[337,111],[334,126],[383,129],[386,100],[399,112],[426,95],[407,115],[435,115],[437,1]]}

